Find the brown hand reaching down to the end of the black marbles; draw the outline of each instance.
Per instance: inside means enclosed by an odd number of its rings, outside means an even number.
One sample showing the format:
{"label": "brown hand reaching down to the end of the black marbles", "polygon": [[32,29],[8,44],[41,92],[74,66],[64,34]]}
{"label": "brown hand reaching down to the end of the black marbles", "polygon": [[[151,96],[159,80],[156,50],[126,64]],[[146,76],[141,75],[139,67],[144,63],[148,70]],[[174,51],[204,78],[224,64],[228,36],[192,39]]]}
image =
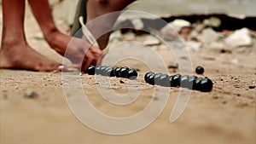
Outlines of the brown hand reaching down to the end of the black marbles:
{"label": "brown hand reaching down to the end of the black marbles", "polygon": [[52,49],[72,61],[73,66],[85,71],[90,65],[96,65],[102,57],[102,50],[93,48],[87,40],[69,37],[58,30],[45,36]]}

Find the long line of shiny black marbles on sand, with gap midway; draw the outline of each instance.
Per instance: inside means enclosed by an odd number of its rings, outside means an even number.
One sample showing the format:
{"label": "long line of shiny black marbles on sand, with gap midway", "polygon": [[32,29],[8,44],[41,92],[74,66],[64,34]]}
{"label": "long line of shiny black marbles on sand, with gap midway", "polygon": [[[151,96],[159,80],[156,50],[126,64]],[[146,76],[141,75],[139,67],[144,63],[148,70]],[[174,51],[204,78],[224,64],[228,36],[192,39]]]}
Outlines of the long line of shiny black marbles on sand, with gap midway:
{"label": "long line of shiny black marbles on sand, with gap midway", "polygon": [[[137,71],[129,67],[112,67],[112,66],[89,66],[87,69],[89,75],[102,75],[107,77],[129,78],[134,80],[137,78]],[[182,87],[187,89],[200,90],[209,92],[212,90],[212,80],[209,78],[197,78],[188,75],[172,75],[164,73],[147,72],[144,80],[148,84],[160,85],[163,87]]]}

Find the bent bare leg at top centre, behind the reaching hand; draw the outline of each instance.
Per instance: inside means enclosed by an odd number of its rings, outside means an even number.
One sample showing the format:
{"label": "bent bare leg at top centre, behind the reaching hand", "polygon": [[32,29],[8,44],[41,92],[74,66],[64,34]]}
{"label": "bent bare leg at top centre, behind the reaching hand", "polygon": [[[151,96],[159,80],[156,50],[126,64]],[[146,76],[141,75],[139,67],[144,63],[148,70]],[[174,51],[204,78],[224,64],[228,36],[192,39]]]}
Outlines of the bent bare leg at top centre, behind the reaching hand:
{"label": "bent bare leg at top centre, behind the reaching hand", "polygon": [[[90,22],[96,17],[99,17],[103,14],[108,14],[114,11],[120,11],[125,9],[127,5],[133,3],[135,0],[88,0],[87,2],[87,24],[90,32],[94,36],[99,36],[102,29],[104,31],[111,31],[114,22],[117,20],[119,13],[111,14],[110,16],[103,16],[100,20],[96,22]],[[108,45],[108,38],[110,32],[102,35],[97,39],[97,43],[101,49],[105,49]]]}

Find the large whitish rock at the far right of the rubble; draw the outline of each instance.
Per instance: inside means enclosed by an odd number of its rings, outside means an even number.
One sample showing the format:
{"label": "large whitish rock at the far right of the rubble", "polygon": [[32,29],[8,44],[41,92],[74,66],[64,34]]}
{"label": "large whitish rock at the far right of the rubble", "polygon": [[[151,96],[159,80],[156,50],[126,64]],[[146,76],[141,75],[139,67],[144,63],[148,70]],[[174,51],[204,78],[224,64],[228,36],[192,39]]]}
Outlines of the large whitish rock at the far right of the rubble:
{"label": "large whitish rock at the far right of the rubble", "polygon": [[251,46],[253,40],[252,37],[250,37],[249,30],[247,28],[242,28],[241,30],[236,30],[229,37],[226,37],[224,43],[232,48],[237,48],[241,46]]}

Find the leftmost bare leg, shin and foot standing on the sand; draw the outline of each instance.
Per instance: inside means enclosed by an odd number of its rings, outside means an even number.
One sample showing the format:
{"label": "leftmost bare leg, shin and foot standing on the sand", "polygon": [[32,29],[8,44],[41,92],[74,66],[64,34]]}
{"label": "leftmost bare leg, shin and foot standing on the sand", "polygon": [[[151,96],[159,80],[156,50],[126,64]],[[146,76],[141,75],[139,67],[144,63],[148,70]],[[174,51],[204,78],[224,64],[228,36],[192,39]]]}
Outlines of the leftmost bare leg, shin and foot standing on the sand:
{"label": "leftmost bare leg, shin and foot standing on the sand", "polygon": [[0,68],[53,71],[60,66],[38,54],[27,43],[24,32],[25,0],[3,0],[3,37]]}

